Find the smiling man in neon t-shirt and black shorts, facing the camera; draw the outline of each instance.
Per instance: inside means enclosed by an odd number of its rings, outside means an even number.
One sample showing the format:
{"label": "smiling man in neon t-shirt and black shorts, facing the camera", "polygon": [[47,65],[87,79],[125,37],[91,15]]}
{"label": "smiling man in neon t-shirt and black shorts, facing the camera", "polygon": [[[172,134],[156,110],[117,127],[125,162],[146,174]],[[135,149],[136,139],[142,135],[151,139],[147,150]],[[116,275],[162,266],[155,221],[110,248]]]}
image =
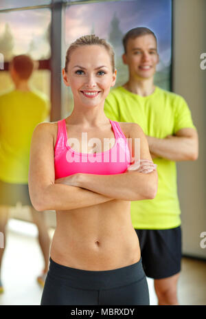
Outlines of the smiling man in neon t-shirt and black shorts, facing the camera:
{"label": "smiling man in neon t-shirt and black shorts, facing the camera", "polygon": [[155,279],[159,305],[178,305],[181,211],[175,162],[197,159],[198,134],[185,100],[154,85],[159,63],[155,34],[148,28],[135,28],[123,43],[128,82],[111,91],[104,111],[111,120],[136,122],[148,137],[159,187],[155,199],[131,203],[131,217],[146,276]]}

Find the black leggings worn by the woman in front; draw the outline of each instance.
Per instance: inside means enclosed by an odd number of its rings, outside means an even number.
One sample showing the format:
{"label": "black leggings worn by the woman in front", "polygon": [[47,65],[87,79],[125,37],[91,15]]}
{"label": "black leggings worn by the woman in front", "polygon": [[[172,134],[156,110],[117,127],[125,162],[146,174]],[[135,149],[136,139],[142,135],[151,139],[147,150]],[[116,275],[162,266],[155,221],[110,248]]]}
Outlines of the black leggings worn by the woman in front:
{"label": "black leggings worn by the woman in front", "polygon": [[78,270],[50,258],[41,305],[149,305],[141,259],[115,270]]}

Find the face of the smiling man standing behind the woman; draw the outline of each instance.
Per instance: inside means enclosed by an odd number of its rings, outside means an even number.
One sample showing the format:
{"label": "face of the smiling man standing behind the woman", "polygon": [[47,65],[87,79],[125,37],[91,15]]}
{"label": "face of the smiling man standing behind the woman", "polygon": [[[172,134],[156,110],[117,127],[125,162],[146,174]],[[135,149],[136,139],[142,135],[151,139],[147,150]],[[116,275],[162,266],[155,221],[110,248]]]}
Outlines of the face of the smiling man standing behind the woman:
{"label": "face of the smiling man standing behind the woman", "polygon": [[122,58],[124,64],[128,65],[130,76],[139,79],[152,78],[159,63],[155,37],[146,34],[136,39],[129,39],[126,54],[123,54]]}

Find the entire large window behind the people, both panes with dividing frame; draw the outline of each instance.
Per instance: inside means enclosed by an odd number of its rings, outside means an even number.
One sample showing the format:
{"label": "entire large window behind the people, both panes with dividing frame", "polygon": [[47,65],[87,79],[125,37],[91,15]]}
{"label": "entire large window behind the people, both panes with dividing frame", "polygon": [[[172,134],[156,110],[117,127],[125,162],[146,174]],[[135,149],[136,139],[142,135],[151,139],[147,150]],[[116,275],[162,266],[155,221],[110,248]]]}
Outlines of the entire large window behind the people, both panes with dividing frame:
{"label": "entire large window behind the people, both panes with dividing frame", "polygon": [[1,0],[0,54],[4,69],[0,70],[0,94],[12,87],[8,72],[12,56],[30,54],[38,63],[31,84],[51,96],[52,121],[65,118],[73,110],[71,90],[62,83],[61,75],[67,47],[85,34],[106,39],[115,50],[116,86],[122,85],[128,79],[128,69],[122,63],[122,37],[137,26],[146,26],[157,35],[160,62],[155,84],[170,89],[171,2]]}

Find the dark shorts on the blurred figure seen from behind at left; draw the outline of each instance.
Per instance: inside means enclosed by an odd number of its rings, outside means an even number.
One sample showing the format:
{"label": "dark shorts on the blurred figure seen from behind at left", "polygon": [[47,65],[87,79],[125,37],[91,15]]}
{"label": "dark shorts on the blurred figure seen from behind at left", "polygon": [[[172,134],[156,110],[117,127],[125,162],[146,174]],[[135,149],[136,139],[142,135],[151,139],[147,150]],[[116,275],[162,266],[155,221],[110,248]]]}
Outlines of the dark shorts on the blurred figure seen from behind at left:
{"label": "dark shorts on the blurred figure seen from behind at left", "polygon": [[18,201],[23,206],[32,206],[28,184],[11,184],[0,180],[0,205],[16,206]]}

